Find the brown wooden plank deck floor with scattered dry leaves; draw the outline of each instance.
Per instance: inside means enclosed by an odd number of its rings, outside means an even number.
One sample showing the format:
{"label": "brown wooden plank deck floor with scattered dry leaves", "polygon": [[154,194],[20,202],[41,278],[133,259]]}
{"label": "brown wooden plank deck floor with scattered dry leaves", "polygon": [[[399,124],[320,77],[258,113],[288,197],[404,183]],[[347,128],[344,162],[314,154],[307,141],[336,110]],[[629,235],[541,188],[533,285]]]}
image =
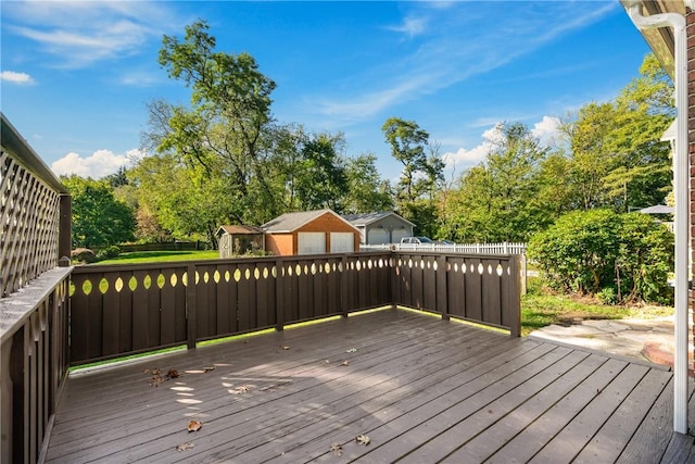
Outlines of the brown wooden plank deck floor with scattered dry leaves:
{"label": "brown wooden plank deck floor with scattered dry leaves", "polygon": [[47,462],[695,462],[671,417],[659,366],[386,310],[72,374]]}

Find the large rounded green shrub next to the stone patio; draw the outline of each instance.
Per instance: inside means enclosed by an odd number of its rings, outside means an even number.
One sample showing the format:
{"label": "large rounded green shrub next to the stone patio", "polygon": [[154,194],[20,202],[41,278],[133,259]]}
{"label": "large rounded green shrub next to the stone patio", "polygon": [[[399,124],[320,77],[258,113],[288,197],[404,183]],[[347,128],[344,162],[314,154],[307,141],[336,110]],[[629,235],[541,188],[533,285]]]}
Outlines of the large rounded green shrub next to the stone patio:
{"label": "large rounded green shrub next to the stone patio", "polygon": [[[564,292],[599,294],[616,303],[670,303],[673,234],[652,217],[608,210],[566,214],[529,242],[548,284]],[[601,297],[601,296],[599,296]]]}

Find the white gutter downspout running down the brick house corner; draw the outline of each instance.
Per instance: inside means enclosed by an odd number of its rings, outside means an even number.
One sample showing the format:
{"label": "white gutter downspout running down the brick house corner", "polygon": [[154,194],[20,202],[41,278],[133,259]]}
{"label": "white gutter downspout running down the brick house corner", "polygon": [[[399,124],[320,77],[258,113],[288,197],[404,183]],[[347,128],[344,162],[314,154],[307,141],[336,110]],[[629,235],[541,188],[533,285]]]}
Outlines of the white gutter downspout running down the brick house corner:
{"label": "white gutter downspout running down the brick house corner", "polygon": [[642,15],[642,1],[626,2],[626,9],[637,29],[672,27],[675,36],[675,85],[677,136],[673,155],[673,188],[675,198],[675,321],[673,330],[673,429],[687,434],[687,263],[688,263],[688,160],[687,160],[687,57],[685,17],[678,13],[654,16]]}

